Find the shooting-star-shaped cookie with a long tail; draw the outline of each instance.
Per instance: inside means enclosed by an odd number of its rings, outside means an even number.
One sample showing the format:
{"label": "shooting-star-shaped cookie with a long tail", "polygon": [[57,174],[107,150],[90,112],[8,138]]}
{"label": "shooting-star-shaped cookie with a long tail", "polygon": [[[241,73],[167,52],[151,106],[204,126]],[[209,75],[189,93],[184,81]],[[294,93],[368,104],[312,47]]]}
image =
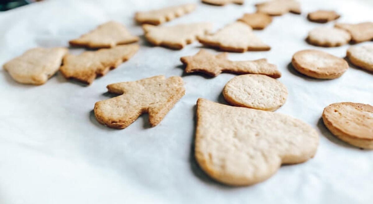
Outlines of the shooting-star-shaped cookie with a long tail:
{"label": "shooting-star-shaped cookie with a long tail", "polygon": [[234,74],[266,74],[273,78],[281,77],[277,66],[270,64],[266,59],[254,61],[230,61],[228,53],[213,55],[206,50],[200,50],[193,56],[181,57],[180,61],[186,65],[185,72],[202,72],[212,77],[222,72]]}

